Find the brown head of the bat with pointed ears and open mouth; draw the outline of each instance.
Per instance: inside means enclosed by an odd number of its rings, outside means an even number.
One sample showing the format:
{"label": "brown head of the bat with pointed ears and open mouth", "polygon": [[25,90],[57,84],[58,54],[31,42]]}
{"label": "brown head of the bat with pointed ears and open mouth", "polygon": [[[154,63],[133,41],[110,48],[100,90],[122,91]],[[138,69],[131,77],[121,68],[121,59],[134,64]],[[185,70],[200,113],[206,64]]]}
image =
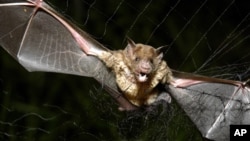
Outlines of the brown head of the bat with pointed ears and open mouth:
{"label": "brown head of the bat with pointed ears and open mouth", "polygon": [[161,48],[155,49],[149,45],[135,44],[131,39],[128,39],[125,53],[137,82],[146,82],[155,72],[162,61]]}

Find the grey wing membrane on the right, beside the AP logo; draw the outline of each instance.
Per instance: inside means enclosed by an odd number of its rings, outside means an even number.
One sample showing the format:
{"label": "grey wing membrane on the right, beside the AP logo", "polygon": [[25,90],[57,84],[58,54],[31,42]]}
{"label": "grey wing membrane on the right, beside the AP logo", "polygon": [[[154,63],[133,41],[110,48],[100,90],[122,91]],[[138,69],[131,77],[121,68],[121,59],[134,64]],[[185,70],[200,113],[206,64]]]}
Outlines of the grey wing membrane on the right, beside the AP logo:
{"label": "grey wing membrane on the right, beside the AP logo", "polygon": [[[199,76],[174,72],[176,79]],[[238,81],[207,78],[200,83],[176,88],[169,93],[195,123],[203,137],[216,141],[230,140],[230,125],[250,124],[250,87]],[[221,82],[225,81],[225,82]],[[239,85],[236,85],[239,84]]]}

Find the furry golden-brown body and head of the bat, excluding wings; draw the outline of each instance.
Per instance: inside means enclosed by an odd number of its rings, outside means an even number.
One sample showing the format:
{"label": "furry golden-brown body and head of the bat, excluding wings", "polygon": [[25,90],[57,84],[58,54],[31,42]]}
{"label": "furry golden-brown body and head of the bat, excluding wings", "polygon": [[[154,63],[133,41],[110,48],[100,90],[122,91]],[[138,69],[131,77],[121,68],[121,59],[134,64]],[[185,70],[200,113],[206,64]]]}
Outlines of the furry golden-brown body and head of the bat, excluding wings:
{"label": "furry golden-brown body and head of the bat, excluding wings", "polygon": [[[88,54],[88,48],[83,50]],[[95,55],[114,71],[116,83],[125,97],[134,105],[142,106],[155,102],[160,93],[159,83],[169,84],[173,79],[159,50],[129,40],[125,50],[103,51]]]}

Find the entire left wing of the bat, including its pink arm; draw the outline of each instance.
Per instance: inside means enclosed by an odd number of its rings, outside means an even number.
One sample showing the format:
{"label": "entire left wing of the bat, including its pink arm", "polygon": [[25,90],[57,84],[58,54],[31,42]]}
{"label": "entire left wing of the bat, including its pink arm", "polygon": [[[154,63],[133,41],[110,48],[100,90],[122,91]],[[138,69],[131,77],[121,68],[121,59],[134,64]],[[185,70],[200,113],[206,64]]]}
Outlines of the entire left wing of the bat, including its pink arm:
{"label": "entire left wing of the bat, including its pink arm", "polygon": [[133,109],[120,96],[110,70],[80,48],[86,45],[95,51],[107,49],[45,2],[0,0],[0,15],[0,46],[25,69],[93,77],[122,107]]}

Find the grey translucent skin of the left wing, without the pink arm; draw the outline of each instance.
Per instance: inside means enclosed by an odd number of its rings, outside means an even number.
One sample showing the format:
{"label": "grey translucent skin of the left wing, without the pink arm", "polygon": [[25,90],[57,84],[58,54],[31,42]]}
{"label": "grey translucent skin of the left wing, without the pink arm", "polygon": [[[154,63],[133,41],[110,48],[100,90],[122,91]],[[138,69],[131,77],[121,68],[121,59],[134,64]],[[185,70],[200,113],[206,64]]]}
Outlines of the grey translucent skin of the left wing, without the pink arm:
{"label": "grey translucent skin of the left wing, without the pink arm", "polygon": [[[42,9],[35,10],[36,5],[29,2],[12,4],[15,5],[1,5],[1,45],[27,70],[94,77],[97,71],[90,70],[105,68],[99,60],[81,51],[70,32],[53,16]],[[52,11],[44,2],[42,7]],[[75,29],[91,46],[104,49]]]}

